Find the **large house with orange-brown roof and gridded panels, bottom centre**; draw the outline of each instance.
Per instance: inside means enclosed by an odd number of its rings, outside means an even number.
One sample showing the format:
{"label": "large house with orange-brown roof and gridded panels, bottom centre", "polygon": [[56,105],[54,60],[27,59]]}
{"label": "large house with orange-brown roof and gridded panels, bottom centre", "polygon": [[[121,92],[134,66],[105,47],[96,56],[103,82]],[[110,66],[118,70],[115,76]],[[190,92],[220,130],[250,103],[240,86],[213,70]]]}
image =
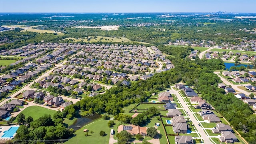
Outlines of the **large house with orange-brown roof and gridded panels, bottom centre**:
{"label": "large house with orange-brown roof and gridded panels, bottom centre", "polygon": [[148,134],[146,127],[135,126],[133,124],[126,125],[126,126],[124,126],[122,124],[122,125],[118,126],[118,133],[123,131],[123,130],[126,130],[127,132],[129,132],[133,136],[135,136],[136,134],[140,134],[142,136],[146,136]]}

